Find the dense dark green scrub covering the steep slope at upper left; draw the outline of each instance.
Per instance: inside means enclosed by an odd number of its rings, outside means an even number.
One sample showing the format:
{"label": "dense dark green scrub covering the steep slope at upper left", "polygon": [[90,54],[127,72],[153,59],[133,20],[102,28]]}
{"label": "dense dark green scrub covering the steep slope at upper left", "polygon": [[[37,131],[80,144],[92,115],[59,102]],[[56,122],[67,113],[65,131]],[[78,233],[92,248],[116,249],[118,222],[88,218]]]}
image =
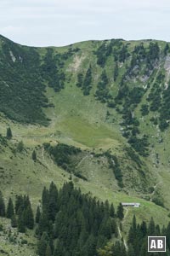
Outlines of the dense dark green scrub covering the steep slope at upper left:
{"label": "dense dark green scrub covering the steep slope at upper left", "polygon": [[42,107],[48,107],[40,77],[37,49],[23,48],[1,38],[0,110],[21,122],[47,124]]}

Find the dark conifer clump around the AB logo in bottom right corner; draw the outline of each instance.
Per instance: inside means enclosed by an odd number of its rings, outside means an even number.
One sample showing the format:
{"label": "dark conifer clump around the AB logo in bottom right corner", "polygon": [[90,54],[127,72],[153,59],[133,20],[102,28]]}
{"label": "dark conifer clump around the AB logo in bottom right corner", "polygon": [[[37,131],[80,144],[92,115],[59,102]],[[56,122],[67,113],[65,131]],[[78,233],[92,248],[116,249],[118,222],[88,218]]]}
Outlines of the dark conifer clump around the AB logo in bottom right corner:
{"label": "dark conifer clump around the AB logo in bottom right corner", "polygon": [[167,236],[167,252],[161,254],[170,255],[170,243],[168,238],[170,236],[170,223],[167,224],[167,227],[163,226],[161,229],[159,224],[155,224],[153,218],[150,218],[149,224],[146,224],[145,221],[138,224],[135,215],[133,215],[133,222],[127,236],[128,249],[126,250],[123,242],[116,241],[114,245],[108,244],[108,246],[99,249],[99,256],[158,255],[158,253],[147,252],[148,236]]}

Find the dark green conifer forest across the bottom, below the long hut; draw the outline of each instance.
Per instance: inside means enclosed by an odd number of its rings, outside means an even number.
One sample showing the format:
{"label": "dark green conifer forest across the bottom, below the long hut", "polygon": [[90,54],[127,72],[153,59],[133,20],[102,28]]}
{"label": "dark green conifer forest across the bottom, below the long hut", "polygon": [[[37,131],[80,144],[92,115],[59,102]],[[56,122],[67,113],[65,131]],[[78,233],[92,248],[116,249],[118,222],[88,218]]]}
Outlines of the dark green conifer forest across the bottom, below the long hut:
{"label": "dark green conifer forest across the bottom, below the long hut", "polygon": [[[3,195],[0,193],[0,216],[11,218],[11,227],[25,233],[34,228],[34,216],[28,196],[17,195],[15,205],[8,200],[7,211]],[[75,189],[73,183],[65,183],[57,189],[52,182],[49,189],[42,191],[41,205],[37,207],[35,217],[35,236],[37,254],[40,256],[146,256],[148,236],[167,236],[167,253],[170,255],[170,223],[160,227],[150,218],[150,223],[137,224],[133,215],[127,234],[127,244],[120,239],[123,231],[123,207],[120,203],[115,212],[108,201],[96,201],[89,195],[83,195]],[[1,228],[3,231],[3,227]],[[119,229],[119,232],[118,232]],[[120,231],[121,230],[121,231]],[[10,240],[17,244],[15,236]],[[111,241],[112,242],[109,242]],[[113,242],[114,241],[114,242]],[[27,241],[23,241],[27,243]],[[153,255],[157,255],[152,253]]]}

